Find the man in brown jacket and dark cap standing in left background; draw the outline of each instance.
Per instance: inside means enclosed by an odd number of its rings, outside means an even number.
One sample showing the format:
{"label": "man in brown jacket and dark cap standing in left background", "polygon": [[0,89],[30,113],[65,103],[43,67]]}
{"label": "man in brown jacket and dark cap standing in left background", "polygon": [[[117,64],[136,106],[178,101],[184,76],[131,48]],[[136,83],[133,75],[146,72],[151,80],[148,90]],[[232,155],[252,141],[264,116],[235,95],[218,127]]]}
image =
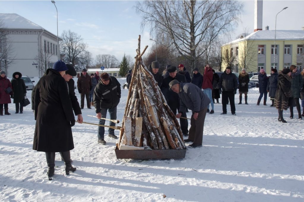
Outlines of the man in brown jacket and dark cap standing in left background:
{"label": "man in brown jacket and dark cap standing in left background", "polygon": [[89,99],[90,91],[92,90],[92,82],[91,82],[91,77],[87,74],[86,69],[82,70],[81,75],[77,80],[77,89],[81,95],[81,97],[80,97],[81,98],[80,99],[81,109],[83,109],[83,107],[85,106],[85,98],[87,100],[88,109],[92,109],[91,102]]}

